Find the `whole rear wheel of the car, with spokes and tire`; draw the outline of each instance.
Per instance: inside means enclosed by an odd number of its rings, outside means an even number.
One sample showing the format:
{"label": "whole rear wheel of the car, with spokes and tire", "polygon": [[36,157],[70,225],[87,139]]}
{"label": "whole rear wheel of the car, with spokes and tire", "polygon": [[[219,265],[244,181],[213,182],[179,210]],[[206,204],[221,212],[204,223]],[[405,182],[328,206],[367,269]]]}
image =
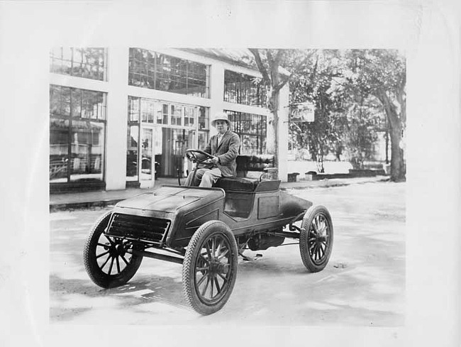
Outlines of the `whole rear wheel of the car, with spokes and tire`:
{"label": "whole rear wheel of the car, with spokes and tire", "polygon": [[333,247],[333,223],[324,206],[311,206],[304,214],[299,236],[299,251],[304,266],[311,272],[323,270]]}

